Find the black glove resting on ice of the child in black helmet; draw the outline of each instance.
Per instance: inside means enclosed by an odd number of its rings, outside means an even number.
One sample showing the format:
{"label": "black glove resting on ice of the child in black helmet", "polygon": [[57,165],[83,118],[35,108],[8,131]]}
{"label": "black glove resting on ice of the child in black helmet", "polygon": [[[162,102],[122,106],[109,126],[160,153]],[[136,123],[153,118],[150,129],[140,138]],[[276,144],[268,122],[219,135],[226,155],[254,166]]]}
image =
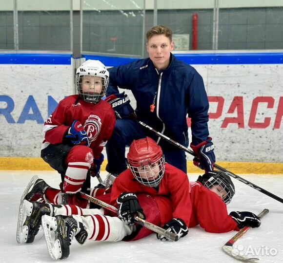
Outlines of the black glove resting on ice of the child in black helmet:
{"label": "black glove resting on ice of the child in black helmet", "polygon": [[240,229],[244,226],[259,227],[262,224],[258,216],[252,212],[233,211],[229,215],[236,221]]}

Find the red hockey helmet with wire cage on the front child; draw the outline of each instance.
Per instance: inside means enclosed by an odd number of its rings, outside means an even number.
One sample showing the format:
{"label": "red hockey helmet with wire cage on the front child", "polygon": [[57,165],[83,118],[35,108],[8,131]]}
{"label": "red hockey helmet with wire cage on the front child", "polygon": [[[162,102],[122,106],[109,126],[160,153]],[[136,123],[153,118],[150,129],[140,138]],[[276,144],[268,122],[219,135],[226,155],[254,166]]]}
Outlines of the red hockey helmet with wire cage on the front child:
{"label": "red hockey helmet with wire cage on the front child", "polygon": [[161,147],[151,138],[134,140],[128,163],[134,177],[147,187],[157,187],[164,175],[165,160]]}

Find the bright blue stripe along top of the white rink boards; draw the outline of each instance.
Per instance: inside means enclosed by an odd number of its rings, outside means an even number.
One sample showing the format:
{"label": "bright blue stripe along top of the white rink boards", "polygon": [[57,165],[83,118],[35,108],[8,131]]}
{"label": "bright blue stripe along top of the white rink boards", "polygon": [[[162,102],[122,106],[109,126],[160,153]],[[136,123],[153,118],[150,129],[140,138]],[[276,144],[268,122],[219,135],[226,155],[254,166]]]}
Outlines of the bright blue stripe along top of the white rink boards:
{"label": "bright blue stripe along top of the white rink boards", "polygon": [[[283,53],[202,53],[174,54],[188,64],[283,64]],[[98,59],[106,66],[119,66],[138,60],[133,57],[84,55]],[[10,54],[0,53],[0,64],[70,65],[71,54]]]}

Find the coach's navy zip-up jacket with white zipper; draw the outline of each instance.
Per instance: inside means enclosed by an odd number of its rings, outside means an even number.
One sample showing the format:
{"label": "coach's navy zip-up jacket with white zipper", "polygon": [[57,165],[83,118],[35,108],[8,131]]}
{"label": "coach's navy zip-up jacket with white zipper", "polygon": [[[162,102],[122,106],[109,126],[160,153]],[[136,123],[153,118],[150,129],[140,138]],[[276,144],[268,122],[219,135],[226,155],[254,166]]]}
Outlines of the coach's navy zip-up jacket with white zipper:
{"label": "coach's navy zip-up jacket with white zipper", "polygon": [[[190,65],[171,54],[171,62],[160,72],[150,58],[108,69],[107,95],[117,94],[119,88],[132,91],[138,119],[169,138],[188,146],[186,114],[191,118],[194,145],[206,140],[208,132],[208,99],[202,76]],[[154,112],[150,105],[155,104]],[[162,147],[170,147],[161,140]]]}

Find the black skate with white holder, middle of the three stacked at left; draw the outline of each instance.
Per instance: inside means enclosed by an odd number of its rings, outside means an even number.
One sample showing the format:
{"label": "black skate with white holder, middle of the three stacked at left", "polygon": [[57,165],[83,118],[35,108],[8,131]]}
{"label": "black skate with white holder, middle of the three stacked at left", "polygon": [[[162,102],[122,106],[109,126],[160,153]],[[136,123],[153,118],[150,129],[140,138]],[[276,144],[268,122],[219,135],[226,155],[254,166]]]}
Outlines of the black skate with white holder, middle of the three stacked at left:
{"label": "black skate with white holder, middle of the three stacked at left", "polygon": [[33,243],[38,234],[41,224],[41,216],[53,215],[53,206],[40,202],[28,202],[23,200],[20,203],[17,242]]}

